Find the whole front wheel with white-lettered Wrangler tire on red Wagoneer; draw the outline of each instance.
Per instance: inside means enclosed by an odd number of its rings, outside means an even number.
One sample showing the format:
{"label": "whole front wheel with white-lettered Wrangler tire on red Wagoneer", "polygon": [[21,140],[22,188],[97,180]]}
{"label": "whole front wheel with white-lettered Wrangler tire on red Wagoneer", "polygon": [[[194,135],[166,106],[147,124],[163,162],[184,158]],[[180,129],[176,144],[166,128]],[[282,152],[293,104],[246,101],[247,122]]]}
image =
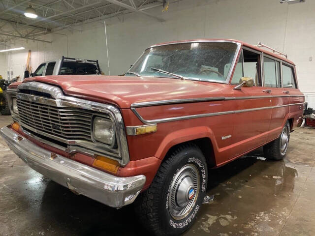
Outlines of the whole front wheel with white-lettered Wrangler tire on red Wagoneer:
{"label": "whole front wheel with white-lettered Wrangler tire on red Wagoneer", "polygon": [[175,149],[162,162],[149,189],[137,199],[141,223],[157,236],[183,234],[203,204],[207,178],[200,148],[186,144]]}

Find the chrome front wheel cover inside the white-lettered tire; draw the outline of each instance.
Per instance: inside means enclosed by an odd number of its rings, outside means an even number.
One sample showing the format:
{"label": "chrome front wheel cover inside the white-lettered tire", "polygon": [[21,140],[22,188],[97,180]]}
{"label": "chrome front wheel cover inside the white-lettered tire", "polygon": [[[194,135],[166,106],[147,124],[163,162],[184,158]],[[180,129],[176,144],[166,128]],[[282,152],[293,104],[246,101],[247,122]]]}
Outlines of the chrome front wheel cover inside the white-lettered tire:
{"label": "chrome front wheel cover inside the white-lettered tire", "polygon": [[200,191],[198,169],[188,164],[182,167],[170,185],[168,210],[175,220],[184,219],[194,207]]}

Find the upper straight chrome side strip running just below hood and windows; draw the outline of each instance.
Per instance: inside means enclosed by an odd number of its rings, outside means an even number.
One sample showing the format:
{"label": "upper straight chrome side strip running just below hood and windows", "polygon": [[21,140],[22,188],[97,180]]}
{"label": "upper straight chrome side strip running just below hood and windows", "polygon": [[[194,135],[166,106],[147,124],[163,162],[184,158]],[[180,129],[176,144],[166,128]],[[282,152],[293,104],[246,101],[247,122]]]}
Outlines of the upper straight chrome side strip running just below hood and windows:
{"label": "upper straight chrome side strip running just below hood and windows", "polygon": [[274,97],[305,97],[304,95],[261,95],[261,96],[246,96],[246,97],[205,97],[205,98],[188,98],[188,99],[172,99],[160,100],[153,102],[137,102],[130,105],[131,108],[151,107],[160,105],[180,104],[189,102],[207,102],[207,101],[225,101],[225,100],[245,100],[258,98],[274,98]]}

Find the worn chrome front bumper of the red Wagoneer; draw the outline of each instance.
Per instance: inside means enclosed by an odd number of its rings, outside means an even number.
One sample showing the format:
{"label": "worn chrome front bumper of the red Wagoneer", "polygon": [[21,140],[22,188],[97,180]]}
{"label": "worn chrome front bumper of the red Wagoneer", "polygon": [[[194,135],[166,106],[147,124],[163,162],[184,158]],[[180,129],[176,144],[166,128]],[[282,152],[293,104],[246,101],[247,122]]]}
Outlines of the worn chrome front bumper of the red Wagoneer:
{"label": "worn chrome front bumper of the red Wagoneer", "polygon": [[124,207],[133,203],[140,193],[146,177],[116,177],[95,168],[54,155],[40,148],[18,133],[3,127],[0,135],[8,146],[26,164],[40,174],[109,207]]}

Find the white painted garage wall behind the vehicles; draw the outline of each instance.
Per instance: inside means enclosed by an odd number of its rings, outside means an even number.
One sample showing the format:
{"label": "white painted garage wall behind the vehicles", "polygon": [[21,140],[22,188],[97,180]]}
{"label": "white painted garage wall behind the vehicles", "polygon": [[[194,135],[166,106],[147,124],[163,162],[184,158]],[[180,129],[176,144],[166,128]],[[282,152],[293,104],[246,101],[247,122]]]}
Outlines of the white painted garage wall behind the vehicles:
{"label": "white painted garage wall behind the vehicles", "polygon": [[[233,38],[251,44],[261,41],[284,51],[296,63],[299,87],[315,108],[314,9],[315,0],[297,4],[280,4],[279,0],[182,0],[170,4],[165,12],[160,7],[148,10],[164,18],[163,23],[138,13],[107,19],[110,72],[126,72],[144,49],[160,42],[198,38]],[[43,61],[69,56],[98,59],[107,74],[104,24],[90,23],[76,29],[80,31],[63,30],[42,37],[51,44],[15,40],[7,47],[26,49],[1,53],[0,74],[6,78],[11,64],[13,75],[22,75],[28,49],[32,50],[33,69]]]}

